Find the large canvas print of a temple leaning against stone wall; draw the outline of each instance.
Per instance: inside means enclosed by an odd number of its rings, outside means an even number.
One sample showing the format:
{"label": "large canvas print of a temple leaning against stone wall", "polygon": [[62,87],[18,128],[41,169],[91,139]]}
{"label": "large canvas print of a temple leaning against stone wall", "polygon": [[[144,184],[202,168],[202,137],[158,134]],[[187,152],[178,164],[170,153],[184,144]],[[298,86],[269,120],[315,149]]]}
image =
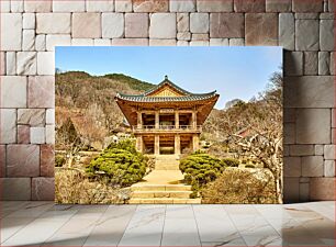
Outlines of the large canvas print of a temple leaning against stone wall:
{"label": "large canvas print of a temple leaning against stone wall", "polygon": [[55,53],[57,203],[282,203],[282,48]]}

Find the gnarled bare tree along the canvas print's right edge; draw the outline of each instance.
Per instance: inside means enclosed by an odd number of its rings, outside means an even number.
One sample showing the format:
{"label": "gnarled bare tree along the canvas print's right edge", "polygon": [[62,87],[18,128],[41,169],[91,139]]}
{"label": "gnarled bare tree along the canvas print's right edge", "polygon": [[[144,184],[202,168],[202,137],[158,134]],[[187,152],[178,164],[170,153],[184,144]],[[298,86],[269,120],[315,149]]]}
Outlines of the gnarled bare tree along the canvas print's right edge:
{"label": "gnarled bare tree along the canvas print's right edge", "polygon": [[236,142],[253,154],[275,177],[278,202],[282,203],[282,75],[275,72],[267,90],[256,102],[255,117],[250,123],[253,136]]}

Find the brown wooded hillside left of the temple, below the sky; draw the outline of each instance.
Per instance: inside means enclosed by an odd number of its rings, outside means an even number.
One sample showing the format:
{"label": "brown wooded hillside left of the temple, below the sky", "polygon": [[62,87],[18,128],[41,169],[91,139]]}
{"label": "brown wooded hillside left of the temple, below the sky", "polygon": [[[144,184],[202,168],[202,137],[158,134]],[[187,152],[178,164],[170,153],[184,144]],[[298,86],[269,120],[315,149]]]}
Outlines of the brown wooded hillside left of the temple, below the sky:
{"label": "brown wooded hillside left of the temple, below the sky", "polygon": [[152,87],[122,74],[56,74],[56,127],[70,119],[82,138],[102,143],[107,136],[123,130],[123,114],[114,101],[115,94],[141,93]]}

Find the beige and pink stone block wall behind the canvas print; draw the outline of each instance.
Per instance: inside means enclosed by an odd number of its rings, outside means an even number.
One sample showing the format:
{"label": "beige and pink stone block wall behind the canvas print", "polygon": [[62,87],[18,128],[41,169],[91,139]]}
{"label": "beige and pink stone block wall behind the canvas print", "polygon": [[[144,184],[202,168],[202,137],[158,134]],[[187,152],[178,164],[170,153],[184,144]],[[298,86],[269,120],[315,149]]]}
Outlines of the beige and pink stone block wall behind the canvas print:
{"label": "beige and pink stone block wall behind the canvas print", "polygon": [[284,199],[335,199],[334,0],[1,0],[3,200],[54,199],[56,45],[283,46]]}

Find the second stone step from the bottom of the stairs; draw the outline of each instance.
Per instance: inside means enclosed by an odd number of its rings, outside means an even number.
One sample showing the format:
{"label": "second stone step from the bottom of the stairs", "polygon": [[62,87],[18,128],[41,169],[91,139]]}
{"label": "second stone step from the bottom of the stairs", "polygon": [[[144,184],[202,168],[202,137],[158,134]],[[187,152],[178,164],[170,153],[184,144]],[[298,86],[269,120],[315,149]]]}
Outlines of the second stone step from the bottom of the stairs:
{"label": "second stone step from the bottom of the stairs", "polygon": [[191,191],[134,191],[132,199],[189,199]]}

